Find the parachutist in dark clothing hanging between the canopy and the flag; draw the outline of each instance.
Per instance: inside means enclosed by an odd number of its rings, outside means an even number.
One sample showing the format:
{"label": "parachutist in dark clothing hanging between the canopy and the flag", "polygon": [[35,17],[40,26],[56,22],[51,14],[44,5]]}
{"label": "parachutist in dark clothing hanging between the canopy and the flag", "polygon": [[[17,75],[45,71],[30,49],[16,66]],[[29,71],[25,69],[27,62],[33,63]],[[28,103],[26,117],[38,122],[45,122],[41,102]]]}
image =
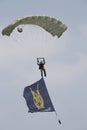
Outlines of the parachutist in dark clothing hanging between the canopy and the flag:
{"label": "parachutist in dark clothing hanging between the canopy and the flag", "polygon": [[[42,60],[40,61],[40,59],[42,59]],[[41,76],[43,77],[43,72],[44,72],[44,76],[46,77],[46,70],[44,68],[45,59],[44,58],[37,58],[37,65],[39,65],[39,69],[41,71]]]}

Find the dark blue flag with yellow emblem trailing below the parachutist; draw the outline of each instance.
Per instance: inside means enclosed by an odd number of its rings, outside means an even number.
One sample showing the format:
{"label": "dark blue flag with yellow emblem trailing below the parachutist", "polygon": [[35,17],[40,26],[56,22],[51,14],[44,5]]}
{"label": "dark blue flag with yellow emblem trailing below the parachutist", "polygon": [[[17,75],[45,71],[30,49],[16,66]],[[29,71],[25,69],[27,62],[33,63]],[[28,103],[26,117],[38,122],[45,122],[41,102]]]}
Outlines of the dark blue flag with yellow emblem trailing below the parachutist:
{"label": "dark blue flag with yellow emblem trailing below the parachutist", "polygon": [[43,78],[25,87],[23,96],[26,100],[29,112],[55,111]]}

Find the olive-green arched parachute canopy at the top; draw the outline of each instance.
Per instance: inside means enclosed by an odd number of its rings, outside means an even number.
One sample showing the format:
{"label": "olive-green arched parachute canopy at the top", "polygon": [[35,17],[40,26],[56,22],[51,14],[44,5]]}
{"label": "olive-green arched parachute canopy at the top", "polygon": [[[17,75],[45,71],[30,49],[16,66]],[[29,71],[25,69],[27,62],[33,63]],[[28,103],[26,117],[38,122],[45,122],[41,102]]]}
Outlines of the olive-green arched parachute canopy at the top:
{"label": "olive-green arched parachute canopy at the top", "polygon": [[2,35],[10,36],[12,31],[19,25],[32,24],[45,29],[52,36],[60,37],[67,29],[67,26],[61,21],[49,16],[25,16],[13,21],[10,25],[2,30]]}

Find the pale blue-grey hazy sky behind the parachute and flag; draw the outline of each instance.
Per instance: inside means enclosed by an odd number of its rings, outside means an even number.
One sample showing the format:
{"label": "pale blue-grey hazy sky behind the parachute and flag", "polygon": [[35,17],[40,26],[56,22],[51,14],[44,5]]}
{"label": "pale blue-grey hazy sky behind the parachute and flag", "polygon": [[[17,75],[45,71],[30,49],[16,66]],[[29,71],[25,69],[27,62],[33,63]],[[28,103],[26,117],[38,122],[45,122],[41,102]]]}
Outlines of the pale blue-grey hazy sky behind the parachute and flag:
{"label": "pale blue-grey hazy sky behind the parachute and flag", "polygon": [[[87,1],[0,1],[0,129],[87,130]],[[53,16],[68,29],[58,39],[40,27],[25,26],[10,37],[4,27],[28,15]],[[52,113],[28,113],[24,87],[41,76],[36,58],[46,60],[44,78],[62,124]]]}

